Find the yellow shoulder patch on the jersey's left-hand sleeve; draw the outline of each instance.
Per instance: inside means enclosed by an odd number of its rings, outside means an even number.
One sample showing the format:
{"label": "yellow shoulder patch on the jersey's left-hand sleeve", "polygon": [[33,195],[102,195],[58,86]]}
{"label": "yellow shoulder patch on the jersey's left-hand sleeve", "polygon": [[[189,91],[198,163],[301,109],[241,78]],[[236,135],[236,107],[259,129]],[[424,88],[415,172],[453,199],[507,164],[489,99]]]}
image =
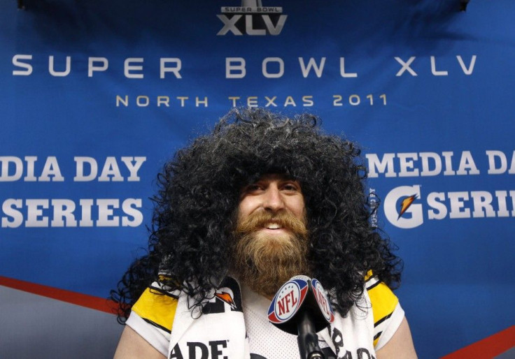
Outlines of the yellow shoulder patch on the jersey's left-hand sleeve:
{"label": "yellow shoulder patch on the jersey's left-hand sleeve", "polygon": [[145,321],[167,332],[171,332],[176,309],[176,298],[159,293],[153,288],[146,288],[141,297],[132,306],[132,311],[141,316]]}

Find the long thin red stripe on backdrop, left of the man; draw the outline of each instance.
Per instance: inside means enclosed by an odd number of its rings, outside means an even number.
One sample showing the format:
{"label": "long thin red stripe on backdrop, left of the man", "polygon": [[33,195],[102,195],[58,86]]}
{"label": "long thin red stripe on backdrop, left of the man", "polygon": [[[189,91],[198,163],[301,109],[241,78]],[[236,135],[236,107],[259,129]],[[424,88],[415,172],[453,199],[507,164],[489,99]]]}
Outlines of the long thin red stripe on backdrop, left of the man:
{"label": "long thin red stripe on backdrop, left of the man", "polygon": [[0,286],[18,289],[20,291],[43,295],[52,299],[62,300],[74,305],[80,305],[90,309],[99,310],[108,314],[114,314],[116,303],[105,298],[94,297],[83,293],[66,291],[64,289],[54,288],[51,286],[43,286],[41,284],[31,283],[30,281],[21,281],[0,276]]}

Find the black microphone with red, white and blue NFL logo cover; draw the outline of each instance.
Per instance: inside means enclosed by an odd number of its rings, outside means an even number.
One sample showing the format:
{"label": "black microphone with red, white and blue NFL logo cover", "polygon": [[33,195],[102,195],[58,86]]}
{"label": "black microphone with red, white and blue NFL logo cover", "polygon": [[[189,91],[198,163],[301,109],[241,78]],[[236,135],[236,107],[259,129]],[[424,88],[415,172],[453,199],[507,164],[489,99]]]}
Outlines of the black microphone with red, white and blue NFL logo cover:
{"label": "black microphone with red, white and blue NFL logo cover", "polygon": [[290,278],[277,291],[268,309],[268,320],[277,328],[298,335],[301,359],[324,359],[316,332],[334,321],[334,311],[317,279]]}

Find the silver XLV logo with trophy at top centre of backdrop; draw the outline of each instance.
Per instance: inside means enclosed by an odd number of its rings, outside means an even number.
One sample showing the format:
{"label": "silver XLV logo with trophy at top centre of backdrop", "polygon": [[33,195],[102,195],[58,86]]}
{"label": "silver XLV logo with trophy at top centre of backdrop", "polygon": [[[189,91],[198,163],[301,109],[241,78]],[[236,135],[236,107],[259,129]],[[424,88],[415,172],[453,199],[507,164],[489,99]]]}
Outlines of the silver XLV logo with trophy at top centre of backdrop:
{"label": "silver XLV logo with trophy at top centre of backdrop", "polygon": [[278,35],[283,31],[288,15],[282,15],[283,8],[262,6],[261,0],[241,0],[241,6],[222,6],[216,15],[223,22],[217,35]]}

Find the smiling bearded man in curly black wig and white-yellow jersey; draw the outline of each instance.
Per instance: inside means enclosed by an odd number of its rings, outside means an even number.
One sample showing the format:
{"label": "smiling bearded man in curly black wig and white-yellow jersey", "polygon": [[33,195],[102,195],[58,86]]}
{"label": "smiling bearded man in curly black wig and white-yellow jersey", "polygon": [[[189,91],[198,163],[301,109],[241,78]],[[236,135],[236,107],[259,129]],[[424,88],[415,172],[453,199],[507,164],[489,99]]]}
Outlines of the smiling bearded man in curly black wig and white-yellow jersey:
{"label": "smiling bearded man in curly black wig and white-yellow jersey", "polygon": [[165,166],[149,254],[113,292],[127,320],[115,358],[298,358],[295,335],[267,320],[297,274],[337,313],[318,332],[326,358],[416,358],[360,150],[317,122],[233,110]]}

